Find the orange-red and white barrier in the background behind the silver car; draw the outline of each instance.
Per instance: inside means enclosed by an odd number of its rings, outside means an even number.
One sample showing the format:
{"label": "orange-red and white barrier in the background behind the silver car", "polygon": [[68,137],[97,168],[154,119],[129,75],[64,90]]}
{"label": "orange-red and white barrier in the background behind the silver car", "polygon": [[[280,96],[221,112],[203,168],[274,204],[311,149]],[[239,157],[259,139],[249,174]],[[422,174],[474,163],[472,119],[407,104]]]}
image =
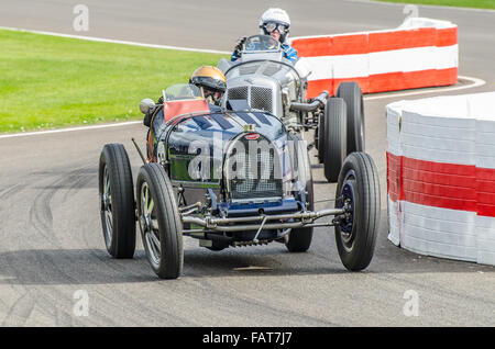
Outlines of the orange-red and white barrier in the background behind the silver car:
{"label": "orange-red and white barrier in the background behind the silver car", "polygon": [[448,86],[458,81],[458,26],[413,18],[387,31],[292,38],[311,67],[307,97],[356,81],[364,93]]}

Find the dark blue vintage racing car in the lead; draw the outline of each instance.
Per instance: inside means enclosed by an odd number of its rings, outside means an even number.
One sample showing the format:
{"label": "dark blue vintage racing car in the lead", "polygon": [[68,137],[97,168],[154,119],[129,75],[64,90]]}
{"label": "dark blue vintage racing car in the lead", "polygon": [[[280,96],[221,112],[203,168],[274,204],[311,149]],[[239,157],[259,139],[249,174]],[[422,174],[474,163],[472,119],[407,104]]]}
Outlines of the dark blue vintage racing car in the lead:
{"label": "dark blue vintage racing car in the lead", "polygon": [[[339,166],[334,207],[316,211],[302,134],[276,110],[230,97],[223,109],[212,111],[196,87],[177,85],[163,92],[163,104],[143,100],[147,158],[134,142],[143,160],[135,187],[123,145],[103,147],[99,194],[108,252],[133,257],[138,221],[152,269],[175,279],[183,269],[184,236],[211,250],[278,241],[301,252],[310,247],[315,227],[328,233],[333,226],[344,267],[366,268],[381,212],[373,159],[362,151],[346,156]],[[321,103],[327,116],[337,110]],[[345,134],[340,127],[328,136],[341,142]],[[323,144],[326,154],[334,154],[331,142]]]}

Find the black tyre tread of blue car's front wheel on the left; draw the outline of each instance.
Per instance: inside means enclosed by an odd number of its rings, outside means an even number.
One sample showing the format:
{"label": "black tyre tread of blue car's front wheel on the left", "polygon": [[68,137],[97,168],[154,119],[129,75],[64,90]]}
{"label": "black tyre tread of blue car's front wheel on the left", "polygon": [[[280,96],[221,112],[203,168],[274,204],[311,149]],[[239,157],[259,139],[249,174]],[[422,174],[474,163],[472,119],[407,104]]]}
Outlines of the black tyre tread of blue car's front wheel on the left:
{"label": "black tyre tread of blue car's front wheel on the left", "polygon": [[[162,166],[147,164],[140,171],[136,198],[140,195],[139,191],[143,179],[147,181],[155,206],[160,207],[157,218],[161,230],[162,258],[158,269],[153,269],[162,279],[177,279],[180,277],[184,266],[184,243],[182,221],[172,183]],[[139,200],[138,202],[141,205]]]}

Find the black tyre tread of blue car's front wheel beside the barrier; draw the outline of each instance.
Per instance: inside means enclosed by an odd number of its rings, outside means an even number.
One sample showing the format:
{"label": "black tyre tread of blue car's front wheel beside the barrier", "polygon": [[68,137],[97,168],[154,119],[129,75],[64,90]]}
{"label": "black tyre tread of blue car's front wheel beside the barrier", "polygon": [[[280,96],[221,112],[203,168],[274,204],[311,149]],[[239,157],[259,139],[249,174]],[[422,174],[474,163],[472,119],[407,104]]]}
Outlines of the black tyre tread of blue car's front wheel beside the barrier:
{"label": "black tyre tread of blue car's front wheel beside the barrier", "polygon": [[[361,180],[358,179],[358,188],[361,192],[360,200],[362,200],[361,210],[363,212],[362,216],[356,218],[358,223],[360,223],[360,235],[366,236],[366,239],[364,240],[364,243],[361,239],[359,243],[355,243],[355,249],[351,254],[349,254],[341,246],[341,241],[339,238],[340,232],[338,232],[336,227],[336,241],[339,249],[339,255],[344,267],[352,271],[360,271],[365,269],[373,258],[376,237],[380,229],[380,180],[376,166],[373,159],[367,154],[353,153],[345,160],[345,162],[348,161],[353,161],[354,165],[356,165],[356,177],[361,177]],[[344,165],[344,169],[345,168],[346,166]],[[342,170],[339,178],[337,193],[340,192],[344,176],[345,171]]]}

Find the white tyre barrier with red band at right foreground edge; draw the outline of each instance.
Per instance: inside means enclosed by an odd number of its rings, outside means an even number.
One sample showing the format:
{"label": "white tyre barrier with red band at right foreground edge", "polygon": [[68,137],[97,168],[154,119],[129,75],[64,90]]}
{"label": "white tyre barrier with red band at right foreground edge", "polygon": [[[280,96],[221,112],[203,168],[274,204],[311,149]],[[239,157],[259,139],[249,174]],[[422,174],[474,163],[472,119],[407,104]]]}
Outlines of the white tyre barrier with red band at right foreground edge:
{"label": "white tyre barrier with red band at right foreground edge", "polygon": [[495,266],[495,92],[386,106],[388,239]]}

